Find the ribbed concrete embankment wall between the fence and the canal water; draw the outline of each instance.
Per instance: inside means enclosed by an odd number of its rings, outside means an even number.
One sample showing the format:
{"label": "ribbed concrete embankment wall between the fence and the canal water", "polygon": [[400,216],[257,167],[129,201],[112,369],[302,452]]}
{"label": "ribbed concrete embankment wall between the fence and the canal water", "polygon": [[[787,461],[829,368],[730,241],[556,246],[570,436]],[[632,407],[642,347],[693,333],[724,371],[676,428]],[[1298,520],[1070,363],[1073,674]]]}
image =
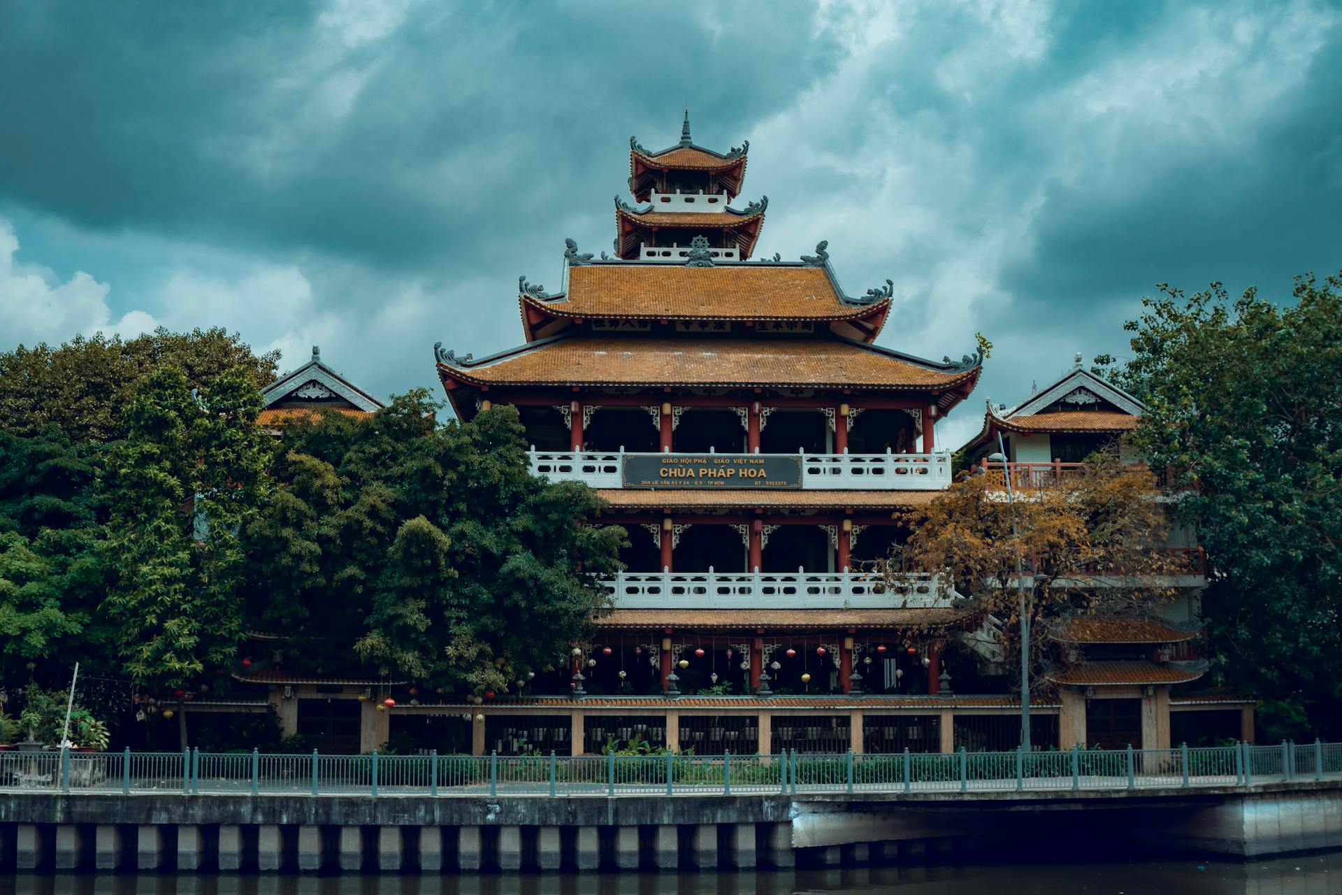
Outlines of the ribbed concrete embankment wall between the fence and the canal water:
{"label": "ribbed concrete embankment wall between the fence and the canal water", "polygon": [[1249,792],[294,797],[0,794],[0,868],[688,870],[1342,848],[1342,782]]}

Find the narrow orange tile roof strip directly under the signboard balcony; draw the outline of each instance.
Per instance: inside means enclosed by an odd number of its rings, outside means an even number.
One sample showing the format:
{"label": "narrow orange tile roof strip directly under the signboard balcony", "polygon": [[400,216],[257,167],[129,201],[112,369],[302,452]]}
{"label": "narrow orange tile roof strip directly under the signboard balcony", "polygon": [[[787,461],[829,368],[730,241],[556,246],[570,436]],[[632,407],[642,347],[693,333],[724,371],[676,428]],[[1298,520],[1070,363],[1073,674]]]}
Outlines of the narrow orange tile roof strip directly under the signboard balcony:
{"label": "narrow orange tile roof strip directly under the signboard balcony", "polygon": [[938,491],[727,491],[718,488],[690,490],[663,488],[660,491],[643,488],[597,488],[612,510],[655,510],[667,507],[684,509],[731,509],[731,507],[816,507],[839,510],[898,510],[911,506],[926,506],[937,499]]}

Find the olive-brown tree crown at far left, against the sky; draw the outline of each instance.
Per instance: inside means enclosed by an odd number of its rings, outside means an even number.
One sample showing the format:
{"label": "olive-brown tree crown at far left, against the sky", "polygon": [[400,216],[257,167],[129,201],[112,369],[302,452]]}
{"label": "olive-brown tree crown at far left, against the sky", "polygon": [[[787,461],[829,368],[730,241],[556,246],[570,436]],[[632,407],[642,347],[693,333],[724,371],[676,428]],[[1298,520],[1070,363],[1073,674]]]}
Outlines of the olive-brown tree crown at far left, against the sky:
{"label": "olive-brown tree crown at far left, against the sky", "polygon": [[20,345],[0,353],[0,431],[36,437],[58,429],[76,444],[121,439],[134,390],[153,370],[170,366],[191,388],[208,390],[225,370],[242,366],[260,389],[275,378],[278,360],[278,352],[255,356],[223,329],[158,329],[129,341],[97,333],[59,348]]}

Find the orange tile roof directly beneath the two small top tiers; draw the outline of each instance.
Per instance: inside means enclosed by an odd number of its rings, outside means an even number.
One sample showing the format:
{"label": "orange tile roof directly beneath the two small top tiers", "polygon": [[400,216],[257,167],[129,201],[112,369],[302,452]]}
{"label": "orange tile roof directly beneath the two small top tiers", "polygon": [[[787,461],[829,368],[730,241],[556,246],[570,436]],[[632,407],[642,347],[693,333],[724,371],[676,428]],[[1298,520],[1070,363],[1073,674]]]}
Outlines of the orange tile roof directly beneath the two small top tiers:
{"label": "orange tile roof directly beneath the two small top tiers", "polygon": [[848,305],[823,267],[765,264],[570,267],[564,299],[523,301],[554,317],[741,321],[839,321],[890,305]]}

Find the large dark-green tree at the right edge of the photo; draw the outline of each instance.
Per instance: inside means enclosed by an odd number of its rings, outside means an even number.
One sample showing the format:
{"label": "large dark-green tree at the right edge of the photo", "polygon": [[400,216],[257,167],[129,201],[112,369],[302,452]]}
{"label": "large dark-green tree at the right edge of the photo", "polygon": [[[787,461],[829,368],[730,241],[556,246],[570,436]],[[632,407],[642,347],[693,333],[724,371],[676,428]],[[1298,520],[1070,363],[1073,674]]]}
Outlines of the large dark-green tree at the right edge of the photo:
{"label": "large dark-green tree at the right edge of the photo", "polygon": [[1338,735],[1342,275],[1298,278],[1286,305],[1159,288],[1110,376],[1149,408],[1137,447],[1185,488],[1219,672],[1267,700],[1279,735],[1308,733],[1302,706]]}

